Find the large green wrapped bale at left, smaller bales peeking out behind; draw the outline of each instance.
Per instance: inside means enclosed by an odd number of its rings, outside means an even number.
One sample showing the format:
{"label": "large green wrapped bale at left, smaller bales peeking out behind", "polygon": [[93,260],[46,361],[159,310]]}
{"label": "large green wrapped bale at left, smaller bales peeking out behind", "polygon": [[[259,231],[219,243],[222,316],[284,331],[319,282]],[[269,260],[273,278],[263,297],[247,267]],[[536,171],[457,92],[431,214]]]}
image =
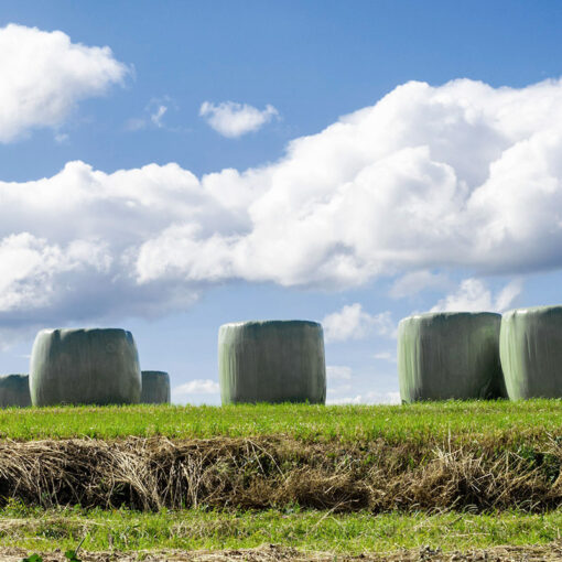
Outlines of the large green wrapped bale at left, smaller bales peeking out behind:
{"label": "large green wrapped bale at left, smaller bales peeking out behind", "polygon": [[31,353],[33,406],[138,403],[139,355],[120,328],[43,329]]}

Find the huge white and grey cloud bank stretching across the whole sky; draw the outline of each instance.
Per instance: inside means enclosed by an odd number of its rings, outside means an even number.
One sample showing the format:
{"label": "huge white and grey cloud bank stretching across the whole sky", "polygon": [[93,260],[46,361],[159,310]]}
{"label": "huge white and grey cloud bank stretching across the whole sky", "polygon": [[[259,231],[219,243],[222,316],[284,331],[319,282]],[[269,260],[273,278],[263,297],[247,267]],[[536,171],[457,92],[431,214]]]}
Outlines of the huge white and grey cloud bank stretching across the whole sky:
{"label": "huge white and grey cloud bank stretching across the whole sky", "polygon": [[[412,82],[262,167],[69,162],[0,182],[0,325],[163,314],[230,280],[348,289],[556,269],[561,153],[561,80]],[[400,294],[441,282],[406,279]]]}

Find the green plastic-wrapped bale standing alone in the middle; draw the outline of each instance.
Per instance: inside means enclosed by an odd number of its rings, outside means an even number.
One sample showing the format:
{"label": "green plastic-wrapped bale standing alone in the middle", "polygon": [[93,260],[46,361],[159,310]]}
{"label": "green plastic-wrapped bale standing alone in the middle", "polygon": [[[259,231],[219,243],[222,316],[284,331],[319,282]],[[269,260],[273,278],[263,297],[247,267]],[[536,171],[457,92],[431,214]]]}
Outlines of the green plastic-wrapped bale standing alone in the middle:
{"label": "green plastic-wrapped bale standing alone in the middle", "polygon": [[326,400],[324,334],[316,322],[240,322],[220,326],[224,404]]}

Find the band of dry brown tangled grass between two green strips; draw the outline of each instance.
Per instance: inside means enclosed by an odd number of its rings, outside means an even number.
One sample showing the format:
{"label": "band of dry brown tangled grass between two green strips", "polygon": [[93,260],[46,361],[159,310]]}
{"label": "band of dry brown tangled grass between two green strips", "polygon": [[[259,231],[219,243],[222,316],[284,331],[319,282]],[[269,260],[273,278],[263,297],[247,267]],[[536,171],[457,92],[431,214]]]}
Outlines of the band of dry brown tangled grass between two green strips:
{"label": "band of dry brown tangled grass between two green strips", "polygon": [[556,441],[544,451],[289,437],[3,441],[0,498],[46,508],[542,511],[562,505],[561,461]]}

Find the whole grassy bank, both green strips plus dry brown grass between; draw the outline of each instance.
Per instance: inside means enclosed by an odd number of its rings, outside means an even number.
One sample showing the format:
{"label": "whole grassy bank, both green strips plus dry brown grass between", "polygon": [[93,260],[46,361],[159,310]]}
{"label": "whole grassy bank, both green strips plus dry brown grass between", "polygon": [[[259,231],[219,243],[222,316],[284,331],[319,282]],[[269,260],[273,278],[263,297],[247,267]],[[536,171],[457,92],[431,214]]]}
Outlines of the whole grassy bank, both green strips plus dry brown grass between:
{"label": "whole grassy bank, both green strips plus dry brown grass between", "polygon": [[[0,543],[30,554],[83,539],[85,551],[334,554],[560,540],[561,400],[14,408],[0,437],[12,498]],[[223,439],[182,441],[208,437]]]}

